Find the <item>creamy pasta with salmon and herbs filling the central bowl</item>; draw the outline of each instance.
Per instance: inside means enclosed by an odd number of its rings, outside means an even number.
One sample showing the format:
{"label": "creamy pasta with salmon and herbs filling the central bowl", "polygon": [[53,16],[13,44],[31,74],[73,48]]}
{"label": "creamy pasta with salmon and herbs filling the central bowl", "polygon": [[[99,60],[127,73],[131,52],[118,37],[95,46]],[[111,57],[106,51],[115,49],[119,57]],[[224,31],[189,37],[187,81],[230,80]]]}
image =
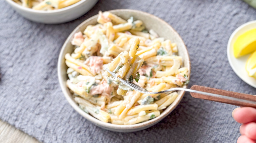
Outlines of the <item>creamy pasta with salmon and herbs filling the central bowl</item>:
{"label": "creamy pasta with salmon and herbs filling the central bowl", "polygon": [[[142,94],[121,85],[105,68],[150,91],[188,83],[175,43],[145,30],[143,22],[99,11],[98,24],[77,32],[66,54],[67,87],[86,113],[103,122],[129,125],[153,119],[178,97],[177,92]],[[83,33],[82,33],[83,32]]]}

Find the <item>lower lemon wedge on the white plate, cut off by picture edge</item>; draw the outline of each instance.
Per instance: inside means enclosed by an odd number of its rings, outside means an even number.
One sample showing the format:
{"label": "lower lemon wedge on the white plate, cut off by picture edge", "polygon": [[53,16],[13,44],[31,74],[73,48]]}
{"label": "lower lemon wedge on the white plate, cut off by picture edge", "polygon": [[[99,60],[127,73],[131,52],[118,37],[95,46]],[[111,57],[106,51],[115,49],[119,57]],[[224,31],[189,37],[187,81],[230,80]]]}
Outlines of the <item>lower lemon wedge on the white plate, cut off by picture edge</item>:
{"label": "lower lemon wedge on the white plate, cut off by picture edge", "polygon": [[245,69],[248,72],[249,76],[252,76],[256,79],[256,51],[253,52],[251,56],[247,59]]}

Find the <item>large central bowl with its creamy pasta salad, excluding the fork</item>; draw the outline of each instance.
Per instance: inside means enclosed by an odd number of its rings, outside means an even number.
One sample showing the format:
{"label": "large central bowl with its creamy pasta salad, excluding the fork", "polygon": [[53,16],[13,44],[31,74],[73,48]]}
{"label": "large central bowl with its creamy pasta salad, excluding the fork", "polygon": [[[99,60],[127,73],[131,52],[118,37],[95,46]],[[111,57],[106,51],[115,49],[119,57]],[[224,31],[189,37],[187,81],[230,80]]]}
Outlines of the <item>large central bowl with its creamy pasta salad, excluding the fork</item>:
{"label": "large central bowl with its creamy pasta salad, excluding the fork", "polygon": [[167,116],[184,91],[142,94],[105,71],[150,91],[183,87],[190,62],[180,36],[148,13],[118,9],[80,24],[64,43],[58,76],[65,97],[86,119],[117,132],[148,128]]}

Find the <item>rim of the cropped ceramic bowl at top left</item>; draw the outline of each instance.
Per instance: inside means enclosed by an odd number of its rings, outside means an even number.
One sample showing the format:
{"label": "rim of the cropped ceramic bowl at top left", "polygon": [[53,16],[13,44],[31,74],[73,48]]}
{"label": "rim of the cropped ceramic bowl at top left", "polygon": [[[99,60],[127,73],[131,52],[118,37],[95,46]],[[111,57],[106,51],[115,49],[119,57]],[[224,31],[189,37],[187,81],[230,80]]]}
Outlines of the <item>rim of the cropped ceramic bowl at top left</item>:
{"label": "rim of the cropped ceramic bowl at top left", "polygon": [[22,9],[26,12],[37,13],[37,14],[52,14],[52,13],[59,13],[59,12],[62,12],[62,11],[68,10],[68,9],[75,8],[75,7],[79,6],[80,4],[87,2],[89,0],[80,0],[79,2],[77,2],[73,5],[67,6],[65,8],[53,9],[53,10],[36,10],[36,9],[32,9],[32,8],[23,7],[19,4],[17,4],[16,2],[14,2],[13,0],[6,0],[6,1],[8,3],[10,3],[12,6]]}

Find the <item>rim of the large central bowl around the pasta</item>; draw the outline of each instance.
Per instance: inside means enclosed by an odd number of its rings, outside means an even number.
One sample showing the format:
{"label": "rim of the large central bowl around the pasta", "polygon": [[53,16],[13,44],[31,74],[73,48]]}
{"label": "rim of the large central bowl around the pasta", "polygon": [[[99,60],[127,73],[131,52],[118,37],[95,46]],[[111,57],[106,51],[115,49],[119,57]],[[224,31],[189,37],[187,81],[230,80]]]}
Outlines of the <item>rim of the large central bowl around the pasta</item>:
{"label": "rim of the large central bowl around the pasta", "polygon": [[[114,9],[114,10],[108,10],[108,12],[119,12],[119,11],[127,11],[127,12],[136,12],[136,13],[141,13],[141,14],[144,14],[144,15],[147,15],[149,17],[152,17],[154,19],[157,19],[159,20],[161,23],[165,24],[168,28],[170,28],[180,39],[181,39],[181,36],[178,34],[178,32],[176,32],[174,30],[173,27],[171,27],[167,22],[163,21],[162,19],[160,19],[159,17],[157,16],[154,16],[152,14],[149,14],[147,12],[143,12],[143,11],[139,11],[139,10],[134,10],[134,9]],[[151,120],[148,120],[148,121],[145,121],[145,122],[142,122],[142,123],[137,123],[137,124],[132,124],[132,125],[117,125],[117,124],[112,124],[112,123],[106,123],[106,122],[102,122],[96,118],[94,118],[93,116],[85,113],[84,111],[82,111],[82,109],[80,109],[78,107],[78,105],[70,98],[70,96],[68,95],[67,93],[67,87],[65,84],[63,84],[63,82],[65,81],[62,81],[62,76],[61,76],[61,63],[62,63],[62,57],[64,54],[64,49],[67,45],[67,43],[69,42],[69,39],[72,38],[72,36],[75,34],[75,32],[84,24],[86,24],[87,22],[91,21],[92,19],[96,18],[98,16],[97,15],[94,15],[90,18],[88,18],[87,20],[85,20],[84,22],[82,22],[81,24],[79,24],[72,32],[71,34],[68,36],[68,38],[65,40],[62,48],[61,48],[61,51],[60,51],[60,54],[59,54],[59,57],[58,57],[58,65],[57,65],[57,73],[58,73],[58,80],[59,80],[59,83],[60,83],[60,87],[61,87],[61,90],[65,96],[65,98],[68,100],[68,102],[70,103],[70,105],[80,114],[82,115],[84,118],[86,118],[87,120],[93,122],[94,124],[96,124],[97,126],[100,126],[100,127],[103,127],[105,129],[108,129],[108,128],[112,128],[112,129],[117,129],[117,130],[129,130],[129,129],[138,129],[138,128],[141,128],[141,127],[149,127],[150,125],[154,125],[156,123],[158,123],[161,119],[165,118],[168,114],[170,114],[177,106],[178,104],[181,102],[181,99],[183,98],[184,94],[185,94],[185,91],[181,91],[181,96],[180,96],[180,99],[178,100],[177,104],[171,108],[171,109],[168,109],[170,106],[168,106],[165,111],[163,111],[158,117],[154,118],[154,119],[151,119]],[[189,57],[189,54],[188,54],[188,50],[187,50],[187,47],[184,43],[184,41],[181,39],[181,42],[182,44],[184,45],[184,48],[186,49],[186,53],[185,56],[188,56],[188,79],[190,79],[190,71],[191,71],[191,64],[190,64],[190,57]],[[184,88],[187,88],[187,85],[184,86]],[[168,109],[168,110],[167,110]]]}

